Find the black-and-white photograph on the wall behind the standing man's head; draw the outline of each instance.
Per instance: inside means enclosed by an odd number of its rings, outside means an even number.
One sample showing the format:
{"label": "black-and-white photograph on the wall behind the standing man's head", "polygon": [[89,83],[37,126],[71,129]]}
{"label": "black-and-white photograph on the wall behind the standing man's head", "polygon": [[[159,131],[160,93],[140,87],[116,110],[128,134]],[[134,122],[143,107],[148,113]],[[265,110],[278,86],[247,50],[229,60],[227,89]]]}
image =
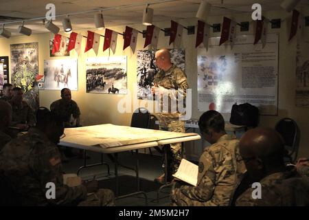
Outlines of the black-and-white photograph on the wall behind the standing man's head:
{"label": "black-and-white photograph on the wall behind the standing man's head", "polygon": [[[155,64],[155,52],[157,50],[137,51],[137,98],[152,100],[150,88],[153,86],[155,75],[159,71]],[[171,61],[185,72],[185,50],[171,49]]]}

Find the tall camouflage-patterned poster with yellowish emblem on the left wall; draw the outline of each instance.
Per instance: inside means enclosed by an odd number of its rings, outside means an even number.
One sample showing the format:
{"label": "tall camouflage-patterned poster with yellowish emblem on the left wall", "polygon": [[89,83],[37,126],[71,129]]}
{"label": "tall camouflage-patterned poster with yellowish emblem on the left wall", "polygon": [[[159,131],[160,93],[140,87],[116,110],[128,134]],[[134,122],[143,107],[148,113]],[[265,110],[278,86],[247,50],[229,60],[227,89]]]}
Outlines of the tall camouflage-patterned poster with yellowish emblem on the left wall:
{"label": "tall camouflage-patterned poster with yellowish emblem on the left wall", "polygon": [[32,109],[38,109],[38,43],[11,44],[11,82],[21,87],[23,99]]}

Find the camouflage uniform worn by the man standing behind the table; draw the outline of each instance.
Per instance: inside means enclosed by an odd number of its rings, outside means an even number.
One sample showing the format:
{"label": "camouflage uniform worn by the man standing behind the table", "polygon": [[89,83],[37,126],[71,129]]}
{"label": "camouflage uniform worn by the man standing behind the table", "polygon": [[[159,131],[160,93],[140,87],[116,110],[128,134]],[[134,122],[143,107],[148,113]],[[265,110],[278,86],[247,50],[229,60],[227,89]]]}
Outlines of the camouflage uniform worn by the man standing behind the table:
{"label": "camouflage uniform worn by the man standing behind the table", "polygon": [[[168,94],[168,103],[163,103],[163,98],[160,98],[161,109],[159,109],[160,113],[157,113],[160,130],[185,133],[185,121],[179,120],[179,117],[184,113],[180,113],[178,108],[173,111],[172,103],[178,107],[178,97],[182,97],[185,105],[187,76],[173,64],[167,72],[160,70],[155,76],[154,83],[165,88],[167,90],[165,94]],[[181,143],[170,144],[170,151],[168,151],[169,173],[176,172],[183,155]]]}

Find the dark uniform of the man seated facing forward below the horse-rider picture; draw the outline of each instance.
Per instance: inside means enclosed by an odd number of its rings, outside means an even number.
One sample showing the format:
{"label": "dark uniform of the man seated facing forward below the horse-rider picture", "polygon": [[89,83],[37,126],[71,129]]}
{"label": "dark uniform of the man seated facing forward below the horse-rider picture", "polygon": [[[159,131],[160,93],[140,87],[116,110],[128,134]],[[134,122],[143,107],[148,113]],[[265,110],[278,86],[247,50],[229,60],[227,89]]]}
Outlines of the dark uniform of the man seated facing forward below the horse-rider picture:
{"label": "dark uniform of the man seated facing forward below the horse-rider picture", "polygon": [[[65,127],[70,127],[69,120],[71,115],[73,115],[73,118],[79,118],[80,117],[80,108],[78,107],[78,104],[71,100],[69,103],[65,102],[65,100],[59,99],[54,101],[50,105],[50,110],[55,111],[57,115],[61,118],[61,120],[65,121]],[[79,124],[76,124],[77,126]]]}

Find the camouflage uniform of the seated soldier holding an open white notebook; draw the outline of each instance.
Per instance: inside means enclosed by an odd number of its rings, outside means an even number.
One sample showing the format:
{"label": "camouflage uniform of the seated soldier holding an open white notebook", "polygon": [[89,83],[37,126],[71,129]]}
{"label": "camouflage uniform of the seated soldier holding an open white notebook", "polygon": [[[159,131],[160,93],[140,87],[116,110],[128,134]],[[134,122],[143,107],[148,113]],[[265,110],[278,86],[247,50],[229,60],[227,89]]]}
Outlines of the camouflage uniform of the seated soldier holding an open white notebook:
{"label": "camouflage uniform of the seated soldier holding an open white notebook", "polygon": [[235,135],[223,135],[201,155],[197,186],[173,188],[172,206],[229,206],[238,179],[245,172]]}

